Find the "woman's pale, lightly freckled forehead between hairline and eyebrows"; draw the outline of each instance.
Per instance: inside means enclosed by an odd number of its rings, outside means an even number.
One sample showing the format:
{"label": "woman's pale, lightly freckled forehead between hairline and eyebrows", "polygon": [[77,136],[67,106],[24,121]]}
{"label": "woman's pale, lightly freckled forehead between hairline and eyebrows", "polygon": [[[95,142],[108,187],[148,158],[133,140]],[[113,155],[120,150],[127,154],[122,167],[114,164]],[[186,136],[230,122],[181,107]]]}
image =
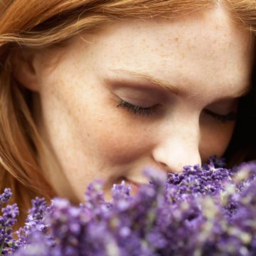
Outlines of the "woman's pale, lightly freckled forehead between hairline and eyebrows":
{"label": "woman's pale, lightly freckled forehead between hairline and eyebrows", "polygon": [[178,18],[116,22],[91,39],[87,51],[101,73],[148,73],[186,85],[188,93],[203,87],[210,97],[250,83],[255,38],[220,7]]}

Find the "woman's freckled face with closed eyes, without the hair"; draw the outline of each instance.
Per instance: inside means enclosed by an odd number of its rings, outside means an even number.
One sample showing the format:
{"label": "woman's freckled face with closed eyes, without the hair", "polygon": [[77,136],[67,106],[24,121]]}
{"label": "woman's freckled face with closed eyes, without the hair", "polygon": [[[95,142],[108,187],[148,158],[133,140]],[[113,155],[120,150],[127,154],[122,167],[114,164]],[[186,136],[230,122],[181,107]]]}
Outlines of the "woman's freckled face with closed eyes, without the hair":
{"label": "woman's freckled face with closed eyes, without the hair", "polygon": [[250,86],[252,39],[219,8],[85,33],[54,68],[36,54],[35,112],[53,150],[49,164],[58,166],[50,174],[56,191],[82,201],[101,179],[108,199],[122,179],[147,183],[144,167],[180,172],[222,156],[236,97]]}

